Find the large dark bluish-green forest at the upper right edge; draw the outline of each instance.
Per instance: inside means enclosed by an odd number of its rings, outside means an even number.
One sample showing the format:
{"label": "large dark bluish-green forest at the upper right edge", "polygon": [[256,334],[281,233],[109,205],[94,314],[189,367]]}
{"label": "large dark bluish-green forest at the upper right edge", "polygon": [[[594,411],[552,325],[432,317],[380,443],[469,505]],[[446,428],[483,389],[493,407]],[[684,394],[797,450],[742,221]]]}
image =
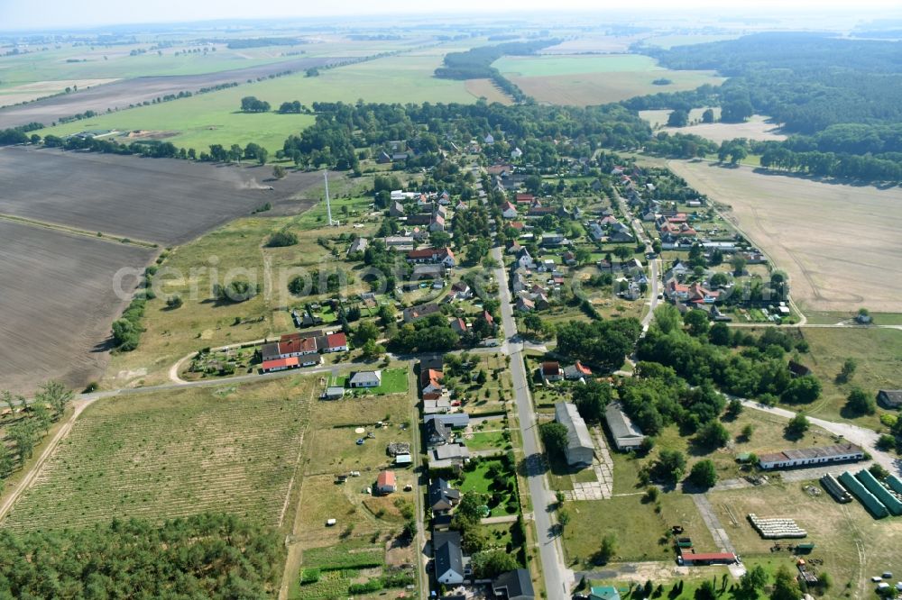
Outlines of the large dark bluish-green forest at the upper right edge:
{"label": "large dark bluish-green forest at the upper right edge", "polygon": [[[902,179],[902,43],[819,33],[759,33],[671,50],[642,49],[669,68],[714,69],[719,88],[630,99],[632,110],[721,105],[724,122],[766,114],[792,133],[769,142],[765,168],[827,177]],[[767,164],[765,164],[767,163]]]}

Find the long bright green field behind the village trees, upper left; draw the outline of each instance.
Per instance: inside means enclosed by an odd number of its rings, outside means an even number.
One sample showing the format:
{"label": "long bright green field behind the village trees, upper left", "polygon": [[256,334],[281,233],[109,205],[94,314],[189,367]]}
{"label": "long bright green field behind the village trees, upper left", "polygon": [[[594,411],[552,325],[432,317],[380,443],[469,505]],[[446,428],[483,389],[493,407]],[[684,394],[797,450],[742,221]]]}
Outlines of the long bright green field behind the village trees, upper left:
{"label": "long bright green field behind the village trees, upper left", "polygon": [[358,98],[368,102],[460,102],[473,103],[465,82],[432,77],[442,57],[410,53],[376,59],[341,68],[323,70],[318,77],[293,74],[262,82],[195,95],[190,98],[142,106],[96,118],[66,123],[41,130],[41,135],[67,135],[86,129],[117,129],[174,132],[167,138],[176,146],[207,150],[211,143],[243,147],[253,141],[270,150],[280,150],[292,133],[313,123],[311,115],[243,114],[241,98],[254,95],[273,107],[298,100],[301,104],[343,101]]}

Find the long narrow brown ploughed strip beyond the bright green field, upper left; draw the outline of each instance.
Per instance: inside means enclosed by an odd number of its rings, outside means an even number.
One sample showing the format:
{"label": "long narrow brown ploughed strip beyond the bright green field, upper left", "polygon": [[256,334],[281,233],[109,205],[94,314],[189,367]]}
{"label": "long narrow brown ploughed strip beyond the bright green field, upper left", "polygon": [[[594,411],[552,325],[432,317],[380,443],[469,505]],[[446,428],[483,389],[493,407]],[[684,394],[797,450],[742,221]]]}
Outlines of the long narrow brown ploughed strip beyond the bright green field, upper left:
{"label": "long narrow brown ploughed strip beyond the bright green field, upper left", "polygon": [[202,87],[232,82],[244,83],[248,79],[268,77],[284,71],[302,71],[312,67],[322,67],[341,60],[344,59],[335,57],[293,59],[203,75],[135,77],[106,86],[93,86],[74,94],[58,95],[26,105],[0,108],[0,129],[32,122],[50,125],[60,117],[81,114],[88,110],[106,113],[106,109],[128,108],[129,105],[137,105],[144,101],[150,102],[154,98],[168,94],[194,93]]}

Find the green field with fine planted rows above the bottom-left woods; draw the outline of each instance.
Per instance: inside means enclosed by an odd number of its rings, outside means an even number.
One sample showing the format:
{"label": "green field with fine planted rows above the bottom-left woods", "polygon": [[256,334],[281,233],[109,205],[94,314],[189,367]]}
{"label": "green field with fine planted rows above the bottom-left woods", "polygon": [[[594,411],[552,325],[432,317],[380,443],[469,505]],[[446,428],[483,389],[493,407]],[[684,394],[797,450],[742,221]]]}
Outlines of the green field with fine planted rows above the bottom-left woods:
{"label": "green field with fine planted rows above the bottom-left woods", "polygon": [[99,400],[2,524],[55,529],[216,510],[279,526],[312,385],[291,377]]}

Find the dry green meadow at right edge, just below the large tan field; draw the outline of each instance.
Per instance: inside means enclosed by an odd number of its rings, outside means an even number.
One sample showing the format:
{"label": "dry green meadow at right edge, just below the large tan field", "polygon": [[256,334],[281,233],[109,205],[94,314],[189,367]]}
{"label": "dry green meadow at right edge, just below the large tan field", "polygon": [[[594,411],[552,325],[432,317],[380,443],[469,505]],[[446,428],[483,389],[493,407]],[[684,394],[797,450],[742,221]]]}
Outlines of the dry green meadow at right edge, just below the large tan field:
{"label": "dry green meadow at right edge, just below the large tan field", "polygon": [[[808,414],[831,421],[852,421],[879,429],[879,415],[886,411],[878,405],[877,414],[857,416],[844,409],[846,398],[854,386],[870,395],[879,389],[902,387],[902,332],[891,329],[819,329],[801,330],[810,345],[808,354],[800,361],[814,371],[821,380],[821,397],[805,406]],[[858,364],[848,383],[839,383],[836,376],[845,359]]]}

